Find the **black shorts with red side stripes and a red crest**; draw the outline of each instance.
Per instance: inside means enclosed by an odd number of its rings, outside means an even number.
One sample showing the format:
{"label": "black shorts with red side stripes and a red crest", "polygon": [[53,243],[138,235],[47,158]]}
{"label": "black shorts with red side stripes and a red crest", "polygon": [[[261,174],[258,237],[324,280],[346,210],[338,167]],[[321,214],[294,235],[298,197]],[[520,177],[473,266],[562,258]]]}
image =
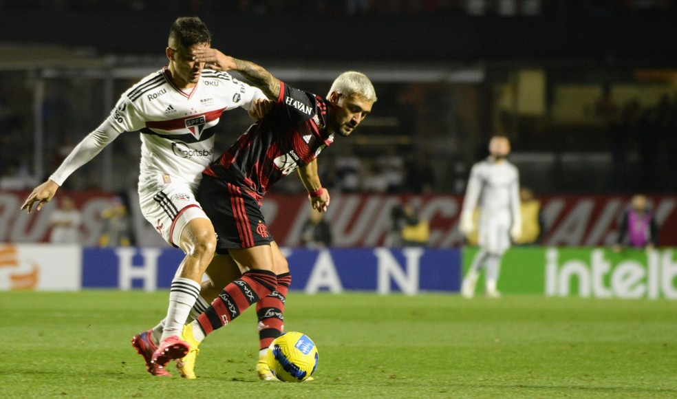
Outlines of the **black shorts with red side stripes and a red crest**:
{"label": "black shorts with red side stripes and a red crest", "polygon": [[202,175],[197,202],[214,225],[217,254],[226,255],[233,248],[270,245],[274,241],[259,201],[246,188]]}

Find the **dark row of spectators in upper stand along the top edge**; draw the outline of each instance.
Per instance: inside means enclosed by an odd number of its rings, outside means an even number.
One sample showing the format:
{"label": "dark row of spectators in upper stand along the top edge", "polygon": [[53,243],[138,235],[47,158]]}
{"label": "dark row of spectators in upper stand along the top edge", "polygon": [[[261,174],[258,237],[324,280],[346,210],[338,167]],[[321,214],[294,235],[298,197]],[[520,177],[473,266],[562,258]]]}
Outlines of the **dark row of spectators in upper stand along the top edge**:
{"label": "dark row of spectators in upper stand along the top edge", "polygon": [[0,0],[0,10],[171,10],[175,13],[222,12],[261,15],[268,13],[318,15],[432,15],[471,14],[530,17],[592,14],[600,17],[639,12],[674,12],[675,0]]}

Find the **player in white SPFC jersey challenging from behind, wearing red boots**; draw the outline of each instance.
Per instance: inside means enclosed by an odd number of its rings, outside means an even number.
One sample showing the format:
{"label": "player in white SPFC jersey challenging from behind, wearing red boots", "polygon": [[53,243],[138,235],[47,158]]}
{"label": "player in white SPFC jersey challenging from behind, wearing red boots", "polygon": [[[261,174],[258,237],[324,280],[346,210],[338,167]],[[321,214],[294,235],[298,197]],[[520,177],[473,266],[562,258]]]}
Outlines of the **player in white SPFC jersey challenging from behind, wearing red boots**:
{"label": "player in white SPFC jersey challenging from behind, wearing red boots", "polygon": [[208,305],[198,296],[202,274],[214,257],[216,237],[195,192],[202,171],[215,158],[215,125],[224,111],[237,107],[255,115],[266,99],[260,89],[240,83],[226,72],[204,69],[204,62],[194,60],[195,50],[210,47],[211,33],[199,18],[177,19],[171,25],[166,48],[169,65],[125,91],[110,116],[21,206],[28,213],[34,205],[40,211],[71,173],[120,134],[140,131],[141,211],[169,244],[186,253],[171,283],[164,330],[161,337],[155,337],[158,347],[153,347],[150,331],[133,339],[153,375],[169,374],[163,367],[153,366],[153,349],[173,358],[188,353],[189,345],[180,339],[181,329],[196,301],[202,302],[196,305],[200,310]]}

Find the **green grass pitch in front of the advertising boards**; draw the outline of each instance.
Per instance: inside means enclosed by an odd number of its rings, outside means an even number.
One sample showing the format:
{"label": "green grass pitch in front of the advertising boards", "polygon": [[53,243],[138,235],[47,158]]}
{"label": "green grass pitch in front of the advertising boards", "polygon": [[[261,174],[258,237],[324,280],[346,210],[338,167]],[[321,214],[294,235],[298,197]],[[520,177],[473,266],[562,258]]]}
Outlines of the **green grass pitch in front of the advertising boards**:
{"label": "green grass pitch in front of the advertising boards", "polygon": [[197,380],[148,374],[129,344],[166,292],[0,292],[8,397],[659,398],[677,396],[677,303],[350,293],[288,297],[319,349],[312,382],[257,380],[255,312],[209,336]]}

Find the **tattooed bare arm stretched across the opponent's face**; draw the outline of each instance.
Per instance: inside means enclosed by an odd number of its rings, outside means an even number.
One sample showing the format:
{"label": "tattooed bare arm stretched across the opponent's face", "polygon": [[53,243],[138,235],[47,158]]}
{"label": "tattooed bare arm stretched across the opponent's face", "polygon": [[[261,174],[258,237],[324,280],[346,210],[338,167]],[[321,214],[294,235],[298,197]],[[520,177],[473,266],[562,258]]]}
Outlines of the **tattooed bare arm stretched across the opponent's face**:
{"label": "tattooed bare arm stretched across the opponent's face", "polygon": [[261,65],[226,56],[226,54],[214,48],[195,50],[193,56],[195,56],[195,61],[205,63],[205,67],[217,71],[233,70],[239,72],[252,85],[261,89],[270,100],[277,101],[280,96],[280,81]]}

